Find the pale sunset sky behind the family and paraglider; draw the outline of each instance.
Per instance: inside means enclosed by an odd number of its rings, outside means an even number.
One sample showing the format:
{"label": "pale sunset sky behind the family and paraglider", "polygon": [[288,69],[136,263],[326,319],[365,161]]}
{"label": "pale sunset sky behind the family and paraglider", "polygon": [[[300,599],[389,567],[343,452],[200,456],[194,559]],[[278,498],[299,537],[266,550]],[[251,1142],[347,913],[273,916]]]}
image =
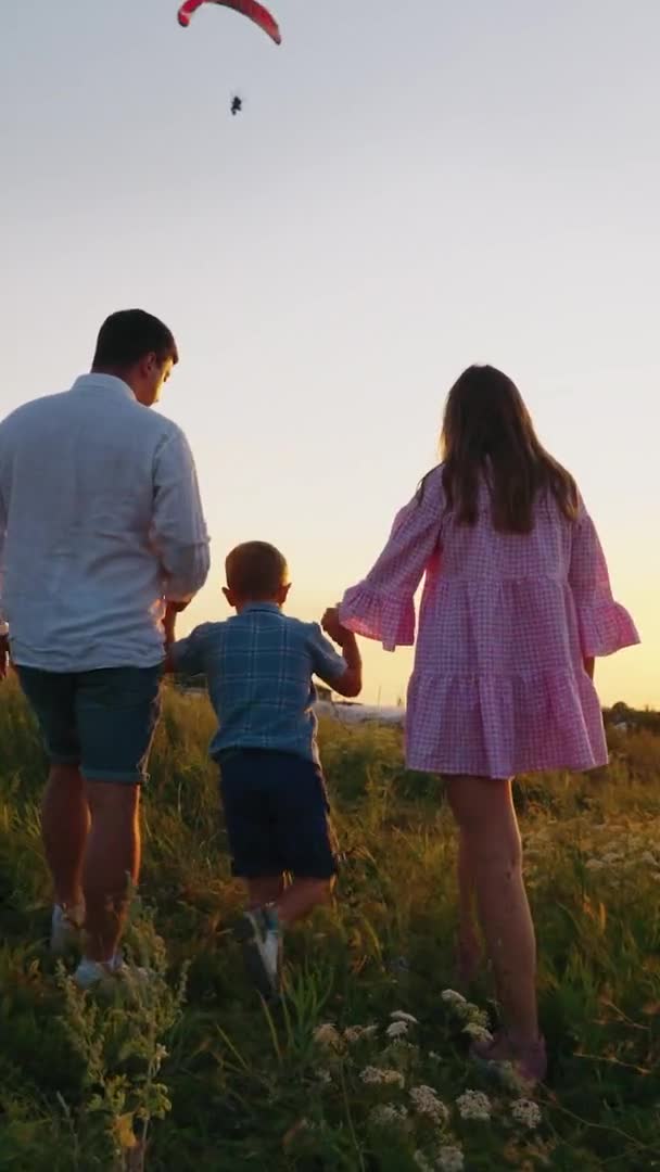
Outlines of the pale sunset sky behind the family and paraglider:
{"label": "pale sunset sky behind the family and paraglider", "polygon": [[[578,478],[644,646],[604,702],[660,707],[660,4],[30,0],[0,40],[0,416],[64,389],[111,311],[173,329],[161,409],[224,556],[287,556],[317,616],[434,463],[472,361]],[[244,113],[232,118],[238,91]],[[410,655],[366,649],[366,700]]]}

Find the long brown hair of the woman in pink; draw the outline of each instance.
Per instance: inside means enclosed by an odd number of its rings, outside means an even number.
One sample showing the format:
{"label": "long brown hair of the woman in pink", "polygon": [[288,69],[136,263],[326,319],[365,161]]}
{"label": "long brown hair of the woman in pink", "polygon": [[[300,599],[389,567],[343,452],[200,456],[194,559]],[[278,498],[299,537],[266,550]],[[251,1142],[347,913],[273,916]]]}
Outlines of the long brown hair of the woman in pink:
{"label": "long brown hair of the woman in pink", "polygon": [[499,532],[531,532],[533,505],[543,492],[554,497],[567,520],[577,517],[573,477],[545,451],[518,388],[495,367],[468,367],[454,383],[444,409],[441,455],[448,507],[460,525],[476,524],[484,479]]}

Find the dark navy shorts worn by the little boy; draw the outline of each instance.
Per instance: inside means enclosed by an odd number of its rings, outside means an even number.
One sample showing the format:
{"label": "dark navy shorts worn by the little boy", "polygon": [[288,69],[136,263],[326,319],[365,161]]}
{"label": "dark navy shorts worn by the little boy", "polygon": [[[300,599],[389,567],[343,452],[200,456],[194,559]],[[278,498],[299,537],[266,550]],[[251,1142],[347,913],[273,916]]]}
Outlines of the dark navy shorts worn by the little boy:
{"label": "dark navy shorts worn by the little boy", "polygon": [[261,879],[288,871],[299,879],[329,879],[335,874],[320,765],[266,749],[225,749],[218,763],[234,875]]}

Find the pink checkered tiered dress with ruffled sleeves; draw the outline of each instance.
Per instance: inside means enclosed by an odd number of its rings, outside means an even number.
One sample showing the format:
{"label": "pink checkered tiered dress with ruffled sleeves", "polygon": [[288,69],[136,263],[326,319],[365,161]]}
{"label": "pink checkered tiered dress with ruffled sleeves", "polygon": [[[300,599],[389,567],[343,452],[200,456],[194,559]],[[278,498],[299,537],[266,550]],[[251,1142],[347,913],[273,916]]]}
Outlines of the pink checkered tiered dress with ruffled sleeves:
{"label": "pink checkered tiered dress with ruffled sleeves", "polygon": [[441,468],[397,515],[375,566],[348,590],[341,621],[386,650],[415,642],[410,769],[512,777],[607,762],[600,704],[583,660],[639,642],[614,602],[593,522],[539,499],[533,531],[498,533],[482,485],[474,527],[445,510]]}

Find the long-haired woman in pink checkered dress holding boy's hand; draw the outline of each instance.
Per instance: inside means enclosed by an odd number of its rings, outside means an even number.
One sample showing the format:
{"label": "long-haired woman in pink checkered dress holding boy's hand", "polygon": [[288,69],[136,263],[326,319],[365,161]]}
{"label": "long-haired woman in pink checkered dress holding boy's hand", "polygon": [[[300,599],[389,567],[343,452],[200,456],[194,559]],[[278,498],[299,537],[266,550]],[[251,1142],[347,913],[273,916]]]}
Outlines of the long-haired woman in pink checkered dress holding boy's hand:
{"label": "long-haired woman in pink checkered dress holding boy's hand", "polygon": [[447,402],[442,456],[397,515],[373,570],[325,622],[387,650],[411,645],[424,577],[407,764],[447,778],[460,833],[460,956],[476,967],[476,894],[494,966],[504,1029],[477,1054],[537,1079],[545,1045],[511,779],[607,762],[593,660],[639,638],[612,598],[572,476],[540,445],[506,375],[488,366],[461,375]]}

